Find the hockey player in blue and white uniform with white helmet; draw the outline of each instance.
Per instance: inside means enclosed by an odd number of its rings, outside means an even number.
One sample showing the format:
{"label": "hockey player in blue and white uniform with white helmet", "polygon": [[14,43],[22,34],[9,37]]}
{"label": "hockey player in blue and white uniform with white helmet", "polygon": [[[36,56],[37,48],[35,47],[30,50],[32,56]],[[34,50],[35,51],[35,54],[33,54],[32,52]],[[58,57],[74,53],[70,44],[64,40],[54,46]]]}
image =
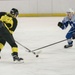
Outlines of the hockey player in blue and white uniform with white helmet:
{"label": "hockey player in blue and white uniform with white helmet", "polygon": [[58,22],[58,26],[64,30],[68,27],[68,25],[71,26],[70,30],[66,34],[66,39],[68,44],[64,46],[64,48],[69,48],[73,46],[73,40],[75,39],[75,14],[72,9],[69,9],[66,12],[66,17],[62,20],[62,22]]}

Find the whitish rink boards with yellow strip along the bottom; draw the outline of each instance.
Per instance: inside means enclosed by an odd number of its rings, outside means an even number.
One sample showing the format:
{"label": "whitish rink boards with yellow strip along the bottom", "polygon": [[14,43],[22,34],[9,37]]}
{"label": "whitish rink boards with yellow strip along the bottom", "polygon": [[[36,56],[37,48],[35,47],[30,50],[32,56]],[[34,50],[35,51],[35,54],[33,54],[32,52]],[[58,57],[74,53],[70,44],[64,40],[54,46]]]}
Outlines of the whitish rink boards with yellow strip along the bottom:
{"label": "whitish rink boards with yellow strip along the bottom", "polygon": [[75,0],[0,0],[0,11],[17,8],[20,17],[65,16],[66,10],[75,10]]}

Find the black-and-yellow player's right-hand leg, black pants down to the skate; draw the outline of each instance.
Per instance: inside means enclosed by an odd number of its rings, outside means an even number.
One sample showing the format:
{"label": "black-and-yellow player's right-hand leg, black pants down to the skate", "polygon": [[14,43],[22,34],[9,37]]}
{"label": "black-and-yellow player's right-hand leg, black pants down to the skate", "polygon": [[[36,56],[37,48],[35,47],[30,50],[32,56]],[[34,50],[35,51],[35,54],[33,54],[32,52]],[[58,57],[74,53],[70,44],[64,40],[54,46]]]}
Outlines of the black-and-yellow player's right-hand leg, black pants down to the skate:
{"label": "black-and-yellow player's right-hand leg, black pants down to the skate", "polygon": [[2,22],[0,22],[0,35],[9,43],[9,45],[12,48],[12,56],[13,60],[21,61],[23,60],[22,58],[18,57],[18,46],[15,43],[15,40],[13,36],[10,34],[10,32],[7,30],[7,28],[4,26]]}

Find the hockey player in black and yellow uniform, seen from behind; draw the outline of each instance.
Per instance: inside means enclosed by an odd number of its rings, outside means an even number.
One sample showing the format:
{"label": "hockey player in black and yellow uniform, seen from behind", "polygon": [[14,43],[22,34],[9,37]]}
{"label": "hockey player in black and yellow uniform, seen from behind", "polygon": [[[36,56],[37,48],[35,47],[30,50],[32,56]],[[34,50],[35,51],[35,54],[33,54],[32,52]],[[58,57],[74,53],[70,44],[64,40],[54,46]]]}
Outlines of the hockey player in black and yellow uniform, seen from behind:
{"label": "hockey player in black and yellow uniform, seen from behind", "polygon": [[18,46],[15,43],[13,32],[15,31],[18,21],[16,17],[19,12],[16,8],[12,8],[10,13],[0,12],[0,53],[6,42],[11,46],[13,61],[22,61],[23,58],[18,57]]}

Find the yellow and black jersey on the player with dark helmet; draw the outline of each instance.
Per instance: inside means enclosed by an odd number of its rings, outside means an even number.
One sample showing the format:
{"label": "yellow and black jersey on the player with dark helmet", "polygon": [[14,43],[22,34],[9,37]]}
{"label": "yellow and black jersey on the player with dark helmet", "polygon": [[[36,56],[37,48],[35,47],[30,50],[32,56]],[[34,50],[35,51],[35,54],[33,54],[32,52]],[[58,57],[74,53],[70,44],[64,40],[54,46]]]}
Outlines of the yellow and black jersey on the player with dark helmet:
{"label": "yellow and black jersey on the player with dark helmet", "polygon": [[18,21],[13,15],[6,12],[0,12],[0,20],[4,23],[5,27],[11,34],[15,31]]}

